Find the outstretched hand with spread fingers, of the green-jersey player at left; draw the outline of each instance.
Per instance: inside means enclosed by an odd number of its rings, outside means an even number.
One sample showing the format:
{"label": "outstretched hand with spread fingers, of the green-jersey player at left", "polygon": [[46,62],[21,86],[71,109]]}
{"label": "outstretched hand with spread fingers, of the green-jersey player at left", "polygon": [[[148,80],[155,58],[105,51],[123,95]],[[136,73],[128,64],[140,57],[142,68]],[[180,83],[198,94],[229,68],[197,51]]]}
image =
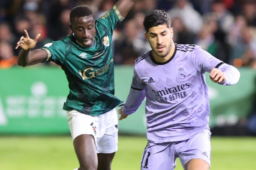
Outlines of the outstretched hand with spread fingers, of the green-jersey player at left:
{"label": "outstretched hand with spread fingers, of the green-jersey player at left", "polygon": [[17,49],[18,47],[21,47],[24,50],[33,49],[37,44],[38,38],[41,36],[41,34],[37,34],[35,39],[31,39],[28,36],[27,30],[24,30],[24,33],[25,33],[25,37],[24,36],[20,37],[20,40],[17,42],[15,49]]}

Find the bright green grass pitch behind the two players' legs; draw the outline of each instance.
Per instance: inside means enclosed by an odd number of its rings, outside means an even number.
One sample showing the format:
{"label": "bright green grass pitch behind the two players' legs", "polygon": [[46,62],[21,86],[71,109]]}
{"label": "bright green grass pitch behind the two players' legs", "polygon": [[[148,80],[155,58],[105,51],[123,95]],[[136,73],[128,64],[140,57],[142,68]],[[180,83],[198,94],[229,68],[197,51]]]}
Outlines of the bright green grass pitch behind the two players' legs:
{"label": "bright green grass pitch behind the two players' legs", "polygon": [[[212,137],[211,170],[255,170],[256,138]],[[112,170],[139,170],[145,137],[119,136]],[[73,170],[78,168],[69,136],[1,136],[1,170]],[[182,170],[177,162],[176,170]]]}

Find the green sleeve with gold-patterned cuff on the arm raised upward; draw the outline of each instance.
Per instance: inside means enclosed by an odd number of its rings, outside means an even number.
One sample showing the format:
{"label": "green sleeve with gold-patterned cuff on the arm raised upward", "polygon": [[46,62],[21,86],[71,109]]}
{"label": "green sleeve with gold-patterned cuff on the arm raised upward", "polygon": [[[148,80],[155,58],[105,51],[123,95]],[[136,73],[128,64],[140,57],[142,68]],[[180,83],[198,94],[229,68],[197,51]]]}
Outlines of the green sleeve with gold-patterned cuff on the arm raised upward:
{"label": "green sleeve with gold-patterned cuff on the arm raised upward", "polygon": [[121,16],[121,13],[114,5],[113,8],[111,8],[111,10],[109,10],[105,15],[100,17],[97,21],[102,23],[104,26],[106,26],[108,30],[111,30],[111,32],[113,32],[117,23],[123,20],[124,17]]}

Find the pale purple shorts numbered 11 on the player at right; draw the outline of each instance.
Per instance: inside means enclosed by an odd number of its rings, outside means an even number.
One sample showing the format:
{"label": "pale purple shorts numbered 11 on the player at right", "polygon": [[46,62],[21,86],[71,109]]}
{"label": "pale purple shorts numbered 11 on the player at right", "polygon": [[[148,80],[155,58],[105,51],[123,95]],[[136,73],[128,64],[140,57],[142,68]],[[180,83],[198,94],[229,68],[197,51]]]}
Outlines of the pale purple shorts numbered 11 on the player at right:
{"label": "pale purple shorts numbered 11 on the player at right", "polygon": [[148,141],[141,160],[141,170],[174,170],[176,158],[185,167],[191,159],[203,159],[210,166],[210,130],[203,130],[188,140],[154,143]]}

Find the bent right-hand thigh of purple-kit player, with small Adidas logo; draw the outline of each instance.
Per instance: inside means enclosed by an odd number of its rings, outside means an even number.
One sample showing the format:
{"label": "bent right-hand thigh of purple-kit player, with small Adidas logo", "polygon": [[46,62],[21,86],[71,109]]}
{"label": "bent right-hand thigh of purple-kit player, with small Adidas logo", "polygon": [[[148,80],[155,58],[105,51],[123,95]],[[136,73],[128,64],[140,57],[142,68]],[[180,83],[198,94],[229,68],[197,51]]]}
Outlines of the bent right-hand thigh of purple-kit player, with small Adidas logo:
{"label": "bent right-hand thigh of purple-kit player, with small Adidas logo", "polygon": [[189,140],[182,142],[178,156],[183,168],[188,162],[189,164],[194,163],[210,167],[210,135],[210,130],[203,130]]}

